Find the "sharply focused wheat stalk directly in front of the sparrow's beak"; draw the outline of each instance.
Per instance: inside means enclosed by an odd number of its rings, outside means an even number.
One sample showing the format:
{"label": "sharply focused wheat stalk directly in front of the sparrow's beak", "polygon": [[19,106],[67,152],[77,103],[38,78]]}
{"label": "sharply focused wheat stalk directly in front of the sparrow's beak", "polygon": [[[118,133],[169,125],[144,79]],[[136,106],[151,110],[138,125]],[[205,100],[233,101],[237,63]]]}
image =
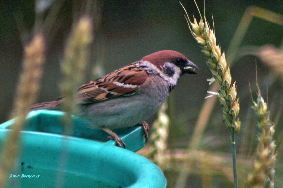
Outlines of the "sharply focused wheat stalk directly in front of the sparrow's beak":
{"label": "sharply focused wheat stalk directly in front of the sparrow's beak", "polygon": [[[195,1],[196,3],[196,1]],[[182,4],[181,4],[182,5]],[[183,6],[183,5],[182,5]],[[196,4],[197,8],[198,5]],[[183,6],[185,12],[186,9]],[[199,13],[200,10],[198,9]],[[239,98],[237,98],[236,84],[233,83],[229,64],[226,62],[224,51],[221,52],[219,45],[216,45],[216,37],[214,29],[212,29],[207,23],[204,15],[204,20],[200,14],[199,23],[194,17],[194,22],[190,21],[188,13],[186,12],[186,20],[190,32],[200,45],[201,52],[206,57],[206,64],[208,65],[212,78],[208,79],[209,85],[214,81],[217,81],[220,85],[216,92],[208,92],[216,95],[223,112],[223,122],[230,129],[232,155],[233,155],[233,169],[234,169],[234,184],[238,187],[237,183],[237,171],[236,171],[236,158],[235,158],[235,134],[239,131],[241,122],[237,118],[240,110]],[[210,96],[209,96],[210,97]],[[237,120],[236,120],[237,118]]]}

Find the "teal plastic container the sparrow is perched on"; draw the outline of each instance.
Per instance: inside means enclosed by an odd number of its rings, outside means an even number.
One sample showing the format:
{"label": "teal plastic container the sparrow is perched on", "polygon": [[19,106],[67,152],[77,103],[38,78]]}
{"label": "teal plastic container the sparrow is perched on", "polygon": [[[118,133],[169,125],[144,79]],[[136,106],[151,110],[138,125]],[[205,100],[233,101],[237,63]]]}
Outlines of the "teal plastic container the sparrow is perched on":
{"label": "teal plastic container the sparrow is perched on", "polygon": [[[134,153],[144,146],[141,126],[114,130],[126,143],[122,149],[115,141],[106,141],[107,133],[88,128],[78,118],[72,135],[63,136],[62,116],[63,112],[53,110],[29,113],[8,187],[166,187],[160,169]],[[0,125],[1,147],[13,123],[14,119]]]}

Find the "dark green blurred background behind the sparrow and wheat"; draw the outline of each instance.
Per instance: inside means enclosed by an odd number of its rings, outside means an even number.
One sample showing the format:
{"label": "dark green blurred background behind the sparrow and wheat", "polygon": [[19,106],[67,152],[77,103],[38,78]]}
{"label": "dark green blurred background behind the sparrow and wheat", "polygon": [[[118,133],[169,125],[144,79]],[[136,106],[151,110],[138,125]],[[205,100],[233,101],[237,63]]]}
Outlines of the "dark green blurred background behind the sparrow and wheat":
{"label": "dark green blurred background behind the sparrow and wheat", "polygon": [[[199,14],[193,1],[181,1],[190,17]],[[203,1],[197,1],[201,12],[203,12]],[[14,92],[21,70],[22,50],[20,34],[25,41],[29,40],[35,22],[34,1],[2,1],[0,9],[0,122],[8,120],[12,109]],[[283,1],[205,1],[205,12],[207,19],[212,24],[211,13],[215,24],[217,43],[222,50],[226,50],[232,36],[243,16],[246,8],[255,5],[268,9],[278,14],[283,14]],[[60,62],[63,57],[63,49],[68,37],[72,17],[74,14],[82,14],[84,11],[77,8],[74,10],[73,1],[64,1],[59,15],[54,21],[54,27],[47,38],[48,51],[47,61],[44,65],[44,76],[42,89],[38,102],[49,101],[60,96],[58,83],[62,78]],[[188,59],[200,67],[197,75],[184,75],[173,90],[174,106],[169,106],[173,111],[170,130],[170,144],[174,148],[186,148],[194,125],[200,113],[206,91],[209,89],[207,78],[211,78],[211,72],[205,64],[205,57],[190,34],[184,11],[179,1],[99,1],[97,11],[93,12],[95,21],[95,43],[93,55],[89,63],[85,83],[94,79],[92,68],[95,63],[100,62],[105,73],[112,72],[124,65],[138,61],[143,56],[159,50],[176,50],[185,54]],[[16,18],[16,19],[15,19]],[[19,19],[20,18],[20,19]],[[101,19],[100,19],[101,18]],[[24,27],[19,27],[16,20]],[[21,29],[23,28],[23,29]],[[19,31],[20,30],[20,31]],[[260,18],[252,19],[241,46],[265,44],[282,45],[283,26],[265,21]],[[249,49],[249,48],[247,48]],[[254,135],[255,120],[251,110],[252,100],[248,82],[255,90],[255,62],[258,67],[258,80],[263,96],[266,99],[266,88],[268,85],[268,104],[271,111],[271,120],[276,119],[275,136],[281,141],[283,118],[281,116],[283,106],[283,84],[282,78],[276,77],[274,70],[267,66],[260,58],[247,55],[237,58],[235,65],[231,68],[231,74],[237,84],[237,93],[240,97],[241,130],[237,135],[237,151],[241,147],[252,147],[255,137],[245,142],[244,135]],[[282,60],[283,61],[283,60]],[[254,95],[255,96],[255,95]],[[280,111],[281,108],[281,111]],[[279,114],[279,115],[278,115]],[[172,115],[172,114],[171,114]],[[156,116],[149,121],[152,124]],[[213,110],[208,126],[205,129],[201,149],[213,152],[230,152],[229,130],[222,123],[222,113],[219,104]],[[279,148],[282,143],[276,143]],[[253,151],[253,149],[251,149]],[[278,159],[282,160],[282,151],[278,151]],[[282,163],[282,162],[281,162]],[[281,164],[278,161],[278,166]],[[282,166],[282,165],[281,165]],[[282,173],[282,169],[279,169]],[[277,176],[276,176],[277,177]],[[221,179],[221,178],[220,178]],[[283,183],[282,176],[277,178]],[[198,185],[199,176],[192,176],[189,185]],[[229,187],[231,184],[222,181],[214,182],[216,187]],[[280,185],[276,185],[276,187]]]}

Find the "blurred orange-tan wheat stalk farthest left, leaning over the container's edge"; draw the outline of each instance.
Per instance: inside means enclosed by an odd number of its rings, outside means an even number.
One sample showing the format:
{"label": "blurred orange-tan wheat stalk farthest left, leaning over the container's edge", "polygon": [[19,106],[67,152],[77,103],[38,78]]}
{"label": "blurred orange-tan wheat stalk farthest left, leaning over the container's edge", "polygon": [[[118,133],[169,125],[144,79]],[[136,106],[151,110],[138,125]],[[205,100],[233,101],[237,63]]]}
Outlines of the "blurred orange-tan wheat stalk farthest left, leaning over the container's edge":
{"label": "blurred orange-tan wheat stalk farthest left, leaning over the container's edge", "polygon": [[17,88],[14,109],[18,117],[13,131],[8,135],[1,152],[0,187],[5,186],[7,176],[17,158],[18,142],[23,122],[29,112],[29,106],[36,102],[45,61],[45,41],[41,33],[35,34],[24,48],[23,71]]}

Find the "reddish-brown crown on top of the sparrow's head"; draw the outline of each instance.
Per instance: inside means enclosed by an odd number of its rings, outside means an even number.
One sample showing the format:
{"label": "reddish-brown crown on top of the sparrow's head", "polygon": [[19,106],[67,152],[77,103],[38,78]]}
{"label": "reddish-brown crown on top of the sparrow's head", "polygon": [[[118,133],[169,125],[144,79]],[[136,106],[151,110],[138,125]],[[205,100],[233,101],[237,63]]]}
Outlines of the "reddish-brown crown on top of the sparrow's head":
{"label": "reddish-brown crown on top of the sparrow's head", "polygon": [[162,70],[165,62],[168,62],[168,61],[173,62],[177,58],[187,60],[186,56],[184,56],[183,54],[179,52],[173,51],[173,50],[158,51],[153,54],[144,56],[141,60],[149,61],[150,63],[155,65],[157,68]]}

